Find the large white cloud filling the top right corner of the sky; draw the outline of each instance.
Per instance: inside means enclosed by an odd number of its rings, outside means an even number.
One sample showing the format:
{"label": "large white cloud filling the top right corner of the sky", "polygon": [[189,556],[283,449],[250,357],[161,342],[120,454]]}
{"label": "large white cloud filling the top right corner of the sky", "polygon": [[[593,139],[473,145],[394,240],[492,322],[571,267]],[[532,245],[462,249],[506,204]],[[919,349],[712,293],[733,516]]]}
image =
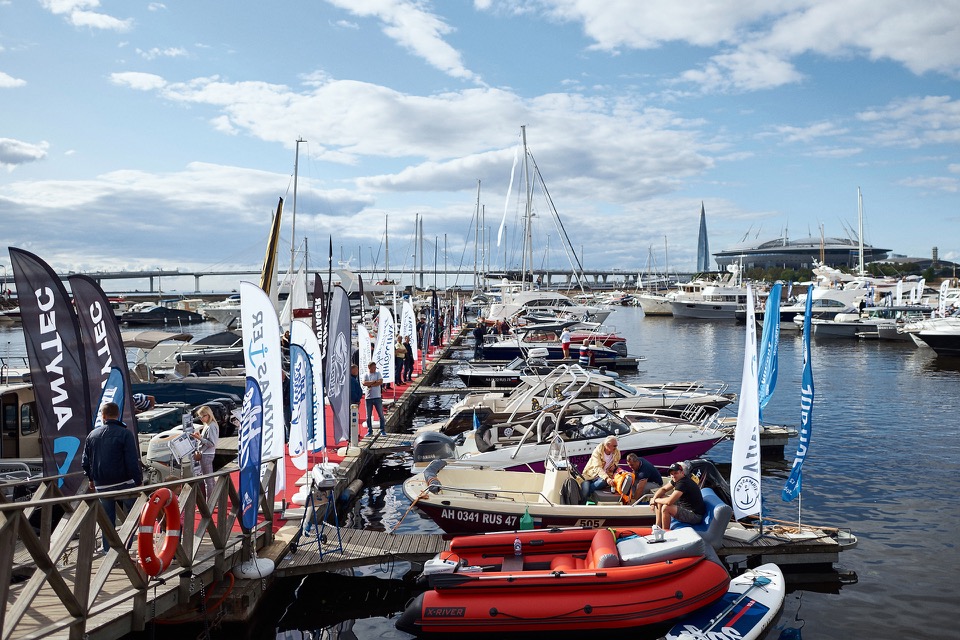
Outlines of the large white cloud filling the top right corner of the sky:
{"label": "large white cloud filling the top right corner of the sky", "polygon": [[915,74],[960,77],[960,11],[949,1],[539,0],[475,3],[581,23],[592,49],[651,49],[684,42],[725,49],[679,80],[704,92],[756,91],[800,82],[804,54],[892,60]]}

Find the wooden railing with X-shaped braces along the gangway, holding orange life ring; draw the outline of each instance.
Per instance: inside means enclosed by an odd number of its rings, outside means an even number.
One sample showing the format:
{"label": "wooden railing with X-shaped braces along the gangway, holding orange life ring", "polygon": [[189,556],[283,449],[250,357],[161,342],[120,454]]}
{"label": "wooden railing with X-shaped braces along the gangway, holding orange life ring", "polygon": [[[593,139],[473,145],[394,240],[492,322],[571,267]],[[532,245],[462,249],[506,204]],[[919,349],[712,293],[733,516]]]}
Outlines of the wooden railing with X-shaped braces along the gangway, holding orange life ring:
{"label": "wooden railing with X-shaped braces along the gangway, holding orange life ring", "polygon": [[[28,481],[37,485],[29,501],[10,502],[0,495],[0,610],[2,640],[58,635],[95,637],[99,626],[122,633],[145,628],[148,619],[186,603],[201,586],[220,580],[234,565],[273,541],[273,494],[276,461],[264,463],[259,503],[262,517],[251,535],[234,534],[240,495],[228,465],[212,474],[171,480],[135,489],[64,496],[63,476]],[[216,478],[208,499],[201,491]],[[150,495],[167,487],[177,496],[181,533],[171,566],[151,578],[128,549],[140,531],[139,514]],[[134,499],[115,528],[101,498]],[[60,515],[62,514],[62,515]],[[99,530],[99,531],[98,531]],[[100,533],[110,551],[100,552]],[[248,544],[252,541],[252,544]],[[136,548],[135,545],[134,549]],[[163,589],[158,589],[159,585]],[[161,593],[162,591],[162,593]],[[151,596],[152,593],[152,596]],[[152,602],[151,602],[152,599]],[[150,602],[152,606],[148,607]]]}

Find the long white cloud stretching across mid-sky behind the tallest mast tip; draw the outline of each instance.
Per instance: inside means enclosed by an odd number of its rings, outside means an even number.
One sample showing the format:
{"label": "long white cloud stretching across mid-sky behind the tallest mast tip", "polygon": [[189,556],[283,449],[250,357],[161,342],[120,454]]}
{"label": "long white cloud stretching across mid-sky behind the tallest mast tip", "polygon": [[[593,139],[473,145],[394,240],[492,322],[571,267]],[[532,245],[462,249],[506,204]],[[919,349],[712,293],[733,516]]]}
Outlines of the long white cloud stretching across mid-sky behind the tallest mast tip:
{"label": "long white cloud stretching across mid-sky behind the tallest mast tip", "polygon": [[669,193],[683,177],[711,167],[711,154],[721,149],[699,139],[703,122],[626,98],[547,94],[523,101],[492,88],[418,96],[323,74],[309,76],[303,93],[219,78],[170,83],[128,73],[113,80],[212,107],[219,131],[289,145],[293,129],[314,141],[317,160],[395,169],[359,178],[364,190],[457,191],[476,177],[505,181],[514,123],[530,123],[530,146],[538,158],[543,151],[541,169],[551,189],[585,202]]}

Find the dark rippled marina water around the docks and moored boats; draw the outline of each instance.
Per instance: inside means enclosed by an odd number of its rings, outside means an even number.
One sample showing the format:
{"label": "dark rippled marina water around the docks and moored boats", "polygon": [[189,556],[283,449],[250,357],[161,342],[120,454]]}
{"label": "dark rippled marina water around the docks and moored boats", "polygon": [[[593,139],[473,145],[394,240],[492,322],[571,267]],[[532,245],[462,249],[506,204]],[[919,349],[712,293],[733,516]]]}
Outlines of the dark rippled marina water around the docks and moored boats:
{"label": "dark rippled marina water around the docks and moored boats", "polygon": [[[743,325],[645,318],[630,307],[618,308],[608,324],[627,338],[632,354],[646,357],[638,372],[623,374],[626,382],[713,380],[739,391]],[[195,334],[208,330],[217,328],[191,327]],[[0,354],[23,353],[17,332],[0,328]],[[470,355],[464,350],[457,357]],[[812,363],[816,399],[801,520],[849,528],[859,544],[840,554],[836,575],[788,579],[779,626],[800,630],[784,637],[957,637],[960,359],[937,358],[912,343],[814,339]],[[777,389],[765,421],[798,425],[801,366],[800,336],[784,331]],[[453,384],[452,371],[446,376]],[[442,417],[450,402],[428,399],[418,422]],[[767,517],[797,518],[797,502],[780,499],[796,445],[794,438],[783,459],[763,465]],[[730,453],[731,445],[722,443],[707,457],[726,473]],[[438,530],[416,510],[408,513],[399,487],[407,462],[403,456],[385,461],[342,519],[346,526]],[[409,576],[405,579],[409,569],[397,562],[280,581],[252,625],[215,627],[210,637],[409,638],[393,626],[393,616],[412,593]],[[199,630],[158,626],[138,637],[197,637]],[[781,633],[774,629],[768,637]]]}

